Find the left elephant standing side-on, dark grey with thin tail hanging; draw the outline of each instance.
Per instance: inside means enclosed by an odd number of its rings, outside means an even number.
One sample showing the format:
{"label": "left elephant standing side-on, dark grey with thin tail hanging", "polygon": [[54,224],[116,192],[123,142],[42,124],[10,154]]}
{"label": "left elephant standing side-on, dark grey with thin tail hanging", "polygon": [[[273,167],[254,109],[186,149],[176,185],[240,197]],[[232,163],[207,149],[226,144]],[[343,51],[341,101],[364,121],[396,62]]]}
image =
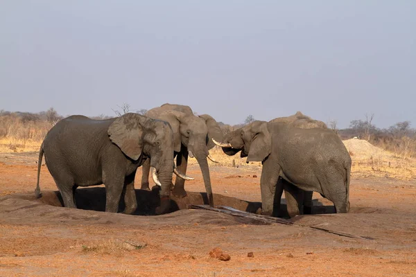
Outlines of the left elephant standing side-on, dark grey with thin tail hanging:
{"label": "left elephant standing side-on, dark grey with thin tail hanging", "polygon": [[74,193],[78,186],[105,184],[105,211],[116,213],[123,195],[126,214],[137,208],[135,175],[137,168],[151,158],[153,179],[161,186],[157,214],[170,208],[173,163],[173,132],[162,121],[128,113],[106,120],[69,116],[46,134],[40,147],[36,197],[40,197],[42,157],[60,190],[64,206],[76,208]]}

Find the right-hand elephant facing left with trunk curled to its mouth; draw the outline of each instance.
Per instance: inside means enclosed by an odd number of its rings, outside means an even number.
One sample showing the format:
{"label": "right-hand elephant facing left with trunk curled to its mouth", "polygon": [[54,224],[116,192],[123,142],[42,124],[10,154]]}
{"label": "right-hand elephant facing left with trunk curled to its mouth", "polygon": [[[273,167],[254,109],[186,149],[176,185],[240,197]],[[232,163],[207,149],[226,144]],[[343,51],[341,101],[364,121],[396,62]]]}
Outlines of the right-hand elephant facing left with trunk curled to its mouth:
{"label": "right-hand elephant facing left with trunk curled to its mouth", "polygon": [[[333,202],[336,213],[349,211],[351,157],[330,129],[302,129],[287,123],[254,121],[227,135],[217,145],[227,155],[241,152],[247,162],[261,161],[263,215],[277,216],[279,186],[286,189],[289,215],[299,214],[299,188],[320,193]],[[278,184],[279,177],[287,182]],[[278,196],[278,197],[277,197]]]}

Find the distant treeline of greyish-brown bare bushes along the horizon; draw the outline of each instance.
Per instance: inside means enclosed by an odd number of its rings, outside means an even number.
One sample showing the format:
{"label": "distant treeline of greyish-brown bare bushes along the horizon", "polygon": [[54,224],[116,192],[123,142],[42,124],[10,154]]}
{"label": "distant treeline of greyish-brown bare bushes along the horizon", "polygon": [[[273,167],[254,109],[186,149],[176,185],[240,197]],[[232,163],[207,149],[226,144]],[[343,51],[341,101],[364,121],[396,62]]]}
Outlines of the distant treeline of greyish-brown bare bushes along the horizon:
{"label": "distant treeline of greyish-brown bare bushes along the horizon", "polygon": [[[114,111],[114,116],[128,111],[128,107],[123,106],[121,111]],[[146,109],[137,111],[139,114],[145,112]],[[333,129],[333,132],[336,132],[343,140],[354,137],[365,139],[376,146],[397,154],[399,157],[416,157],[416,129],[410,127],[410,121],[402,121],[381,129],[372,124],[373,117],[374,115],[370,118],[366,116],[365,120],[352,120],[349,127],[345,129],[337,129],[336,123],[333,121],[328,123],[328,127]],[[63,116],[53,108],[38,113],[0,110],[0,139],[42,141],[49,129],[62,118]],[[111,116],[101,114],[90,118],[102,120],[111,118]],[[254,117],[250,115],[245,118],[244,123],[238,125],[229,125],[222,122],[219,122],[219,124],[224,134],[227,134],[254,120]]]}

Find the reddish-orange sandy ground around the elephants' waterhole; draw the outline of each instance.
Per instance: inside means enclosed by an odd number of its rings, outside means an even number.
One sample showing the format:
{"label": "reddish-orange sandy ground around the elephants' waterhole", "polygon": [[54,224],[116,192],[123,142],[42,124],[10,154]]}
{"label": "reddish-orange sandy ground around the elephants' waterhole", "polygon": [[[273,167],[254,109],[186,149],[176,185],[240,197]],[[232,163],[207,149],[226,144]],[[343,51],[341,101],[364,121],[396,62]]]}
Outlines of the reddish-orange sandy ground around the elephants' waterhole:
{"label": "reddish-orange sandy ground around the elephants' waterhole", "polygon": [[[35,161],[37,153],[0,153],[0,276],[416,276],[415,181],[353,176],[350,213],[328,213],[331,202],[314,194],[321,214],[295,217],[293,226],[266,225],[191,209],[104,213],[103,188],[78,189],[78,206],[86,210],[62,208],[45,166],[43,197],[34,199]],[[211,166],[217,204],[258,204],[260,170]],[[198,166],[187,174],[195,180],[178,203],[202,204],[191,193],[205,190]],[[154,195],[137,194],[146,210]],[[230,260],[211,257],[216,247]]]}

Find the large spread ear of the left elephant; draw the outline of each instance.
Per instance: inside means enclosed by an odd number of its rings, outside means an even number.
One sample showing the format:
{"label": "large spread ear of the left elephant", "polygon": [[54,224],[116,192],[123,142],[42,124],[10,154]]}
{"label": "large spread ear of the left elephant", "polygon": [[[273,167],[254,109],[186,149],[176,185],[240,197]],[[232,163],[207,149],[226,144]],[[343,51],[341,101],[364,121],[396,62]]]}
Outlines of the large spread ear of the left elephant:
{"label": "large spread ear of the left elephant", "polygon": [[146,116],[128,113],[120,116],[108,127],[110,140],[132,160],[139,159],[144,146]]}

